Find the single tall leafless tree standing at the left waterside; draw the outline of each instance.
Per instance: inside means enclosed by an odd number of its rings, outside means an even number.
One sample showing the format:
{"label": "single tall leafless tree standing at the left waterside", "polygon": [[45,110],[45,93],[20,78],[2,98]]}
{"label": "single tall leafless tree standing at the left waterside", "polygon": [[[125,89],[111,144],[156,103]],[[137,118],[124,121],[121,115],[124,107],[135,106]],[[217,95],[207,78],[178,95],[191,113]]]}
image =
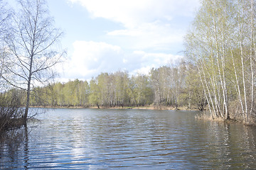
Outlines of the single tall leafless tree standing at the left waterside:
{"label": "single tall leafless tree standing at the left waterside", "polygon": [[63,33],[54,28],[44,0],[19,0],[12,21],[12,29],[5,42],[10,52],[7,61],[15,69],[6,65],[6,74],[2,77],[12,86],[26,91],[23,115],[26,123],[34,84],[45,83],[55,75],[53,66],[60,62],[62,56],[56,45]]}

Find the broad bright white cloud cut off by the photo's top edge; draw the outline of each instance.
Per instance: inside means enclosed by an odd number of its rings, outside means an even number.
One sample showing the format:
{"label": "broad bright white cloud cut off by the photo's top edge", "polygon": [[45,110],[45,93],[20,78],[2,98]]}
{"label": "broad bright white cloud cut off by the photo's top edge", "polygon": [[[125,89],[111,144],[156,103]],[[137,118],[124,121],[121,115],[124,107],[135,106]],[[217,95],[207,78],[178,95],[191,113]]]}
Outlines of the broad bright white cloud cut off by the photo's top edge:
{"label": "broad bright white cloud cut off by the photo's top edge", "polygon": [[172,20],[175,16],[191,16],[198,0],[69,0],[87,8],[92,17],[107,18],[134,28],[141,23]]}

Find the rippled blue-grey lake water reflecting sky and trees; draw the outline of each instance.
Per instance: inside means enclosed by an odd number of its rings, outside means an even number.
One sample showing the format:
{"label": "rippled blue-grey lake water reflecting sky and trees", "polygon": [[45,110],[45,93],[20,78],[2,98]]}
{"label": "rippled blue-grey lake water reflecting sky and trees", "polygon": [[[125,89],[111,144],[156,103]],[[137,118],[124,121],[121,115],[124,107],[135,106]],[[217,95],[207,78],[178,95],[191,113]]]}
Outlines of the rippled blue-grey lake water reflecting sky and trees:
{"label": "rippled blue-grey lake water reflecting sky and trees", "polygon": [[196,113],[47,109],[0,141],[0,168],[256,169],[255,128]]}

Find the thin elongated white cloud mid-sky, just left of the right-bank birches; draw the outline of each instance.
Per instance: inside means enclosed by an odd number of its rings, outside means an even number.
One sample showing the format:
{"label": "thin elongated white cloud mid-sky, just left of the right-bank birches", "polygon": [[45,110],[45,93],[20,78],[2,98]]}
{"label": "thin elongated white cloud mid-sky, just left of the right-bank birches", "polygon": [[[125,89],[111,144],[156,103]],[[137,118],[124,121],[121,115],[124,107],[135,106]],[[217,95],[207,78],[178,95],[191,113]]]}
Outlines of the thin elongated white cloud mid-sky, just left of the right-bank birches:
{"label": "thin elongated white cloud mid-sky, just left of the right-bank birches", "polygon": [[134,50],[169,50],[171,45],[182,44],[183,35],[186,29],[175,29],[175,26],[156,21],[154,23],[142,23],[137,28],[113,30],[107,35],[119,36],[124,42],[128,43],[127,47]]}

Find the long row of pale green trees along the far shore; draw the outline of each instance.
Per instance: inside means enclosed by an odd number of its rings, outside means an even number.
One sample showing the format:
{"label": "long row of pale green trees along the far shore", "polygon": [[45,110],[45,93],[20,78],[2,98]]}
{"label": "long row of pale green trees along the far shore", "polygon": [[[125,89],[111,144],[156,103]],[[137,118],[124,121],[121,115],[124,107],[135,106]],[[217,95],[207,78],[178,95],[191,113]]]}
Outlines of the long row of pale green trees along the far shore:
{"label": "long row of pale green trees along the far shore", "polygon": [[33,89],[32,106],[172,106],[203,111],[206,100],[191,64],[152,68],[147,75],[128,72],[102,73],[90,82],[68,81]]}

